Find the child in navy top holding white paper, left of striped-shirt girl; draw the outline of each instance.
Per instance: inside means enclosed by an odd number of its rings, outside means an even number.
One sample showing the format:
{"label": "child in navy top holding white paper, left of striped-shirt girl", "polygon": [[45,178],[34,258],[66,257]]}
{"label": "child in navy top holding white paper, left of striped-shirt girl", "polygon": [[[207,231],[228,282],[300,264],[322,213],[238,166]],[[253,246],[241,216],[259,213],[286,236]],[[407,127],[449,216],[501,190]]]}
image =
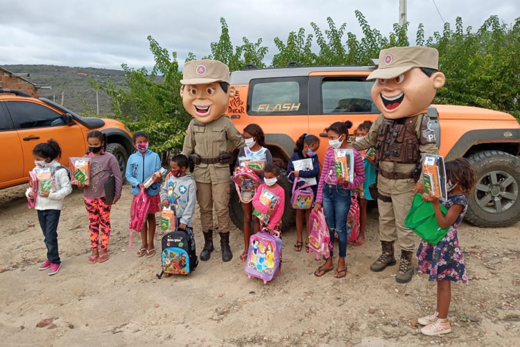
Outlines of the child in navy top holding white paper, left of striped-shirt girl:
{"label": "child in navy top holding white paper, left of striped-shirt girl", "polygon": [[[320,180],[320,162],[316,151],[320,148],[320,139],[310,134],[303,134],[297,139],[294,148],[294,153],[291,155],[287,164],[287,172],[289,174],[289,182],[293,183],[296,178],[315,178],[316,183]],[[313,168],[305,171],[295,170],[294,162],[297,160],[310,159],[313,163]],[[297,183],[297,188],[304,185],[303,181]],[[314,198],[318,194],[318,184],[311,185],[314,192]],[[306,221],[309,221],[312,208],[307,210],[296,210],[296,232],[297,240],[293,246],[297,252],[302,251],[303,246],[303,226]],[[309,223],[307,225],[307,236],[305,238],[305,251],[309,253],[309,232],[311,230]]]}

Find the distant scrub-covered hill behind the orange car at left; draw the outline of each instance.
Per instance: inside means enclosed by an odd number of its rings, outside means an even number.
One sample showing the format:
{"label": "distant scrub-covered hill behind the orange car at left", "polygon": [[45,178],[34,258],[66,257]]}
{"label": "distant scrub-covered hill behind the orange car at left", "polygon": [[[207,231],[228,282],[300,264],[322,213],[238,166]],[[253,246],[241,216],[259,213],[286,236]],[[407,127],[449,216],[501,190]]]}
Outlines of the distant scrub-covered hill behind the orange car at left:
{"label": "distant scrub-covered hill behind the orange car at left", "polygon": [[[40,97],[53,99],[60,103],[64,91],[64,105],[74,112],[83,112],[84,102],[96,112],[96,90],[89,84],[89,77],[106,85],[107,78],[114,85],[127,87],[122,70],[94,69],[93,67],[62,67],[55,65],[1,65],[11,72],[26,72],[27,78],[37,85],[50,85],[52,89],[41,89]],[[99,114],[112,114],[111,99],[104,92],[99,92]]]}

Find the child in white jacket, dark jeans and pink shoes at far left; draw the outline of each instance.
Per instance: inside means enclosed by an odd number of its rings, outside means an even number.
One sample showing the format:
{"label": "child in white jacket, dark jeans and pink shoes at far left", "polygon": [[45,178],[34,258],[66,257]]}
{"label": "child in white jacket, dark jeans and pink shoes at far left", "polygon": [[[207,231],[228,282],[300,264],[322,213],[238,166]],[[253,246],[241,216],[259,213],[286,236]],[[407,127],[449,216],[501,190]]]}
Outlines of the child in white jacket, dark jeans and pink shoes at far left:
{"label": "child in white jacket, dark jeans and pink shoes at far left", "polygon": [[55,192],[35,192],[31,187],[26,191],[28,198],[33,198],[35,194],[35,210],[38,214],[38,221],[44,234],[44,243],[47,248],[47,259],[38,269],[49,269],[49,275],[54,275],[60,270],[61,260],[58,253],[58,221],[63,206],[65,196],[71,194],[72,187],[67,169],[56,159],[61,158],[62,150],[58,142],[49,139],[46,143],[37,144],[33,149],[34,163],[36,167],[33,173],[46,168],[51,168],[53,179],[56,185]]}

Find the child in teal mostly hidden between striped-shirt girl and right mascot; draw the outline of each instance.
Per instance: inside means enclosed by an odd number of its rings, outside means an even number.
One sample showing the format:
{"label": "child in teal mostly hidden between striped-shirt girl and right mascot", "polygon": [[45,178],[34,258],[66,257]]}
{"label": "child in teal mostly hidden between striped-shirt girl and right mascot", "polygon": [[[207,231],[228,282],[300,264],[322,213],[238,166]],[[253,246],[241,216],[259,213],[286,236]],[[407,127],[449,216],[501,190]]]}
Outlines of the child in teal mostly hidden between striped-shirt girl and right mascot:
{"label": "child in teal mostly hidden between striped-shirt girl and right mascot", "polygon": [[[356,135],[356,141],[361,140],[363,137],[368,135],[368,131],[372,126],[372,121],[363,121],[356,131],[354,131],[354,135]],[[356,192],[359,194],[359,235],[356,242],[352,244],[353,246],[359,247],[365,244],[365,229],[367,227],[367,203],[369,200],[374,200],[370,195],[370,190],[368,187],[376,183],[377,177],[377,169],[370,159],[365,158],[365,153],[367,151],[361,151],[361,155],[363,156],[363,167],[365,169],[365,181],[361,187],[356,188]]]}

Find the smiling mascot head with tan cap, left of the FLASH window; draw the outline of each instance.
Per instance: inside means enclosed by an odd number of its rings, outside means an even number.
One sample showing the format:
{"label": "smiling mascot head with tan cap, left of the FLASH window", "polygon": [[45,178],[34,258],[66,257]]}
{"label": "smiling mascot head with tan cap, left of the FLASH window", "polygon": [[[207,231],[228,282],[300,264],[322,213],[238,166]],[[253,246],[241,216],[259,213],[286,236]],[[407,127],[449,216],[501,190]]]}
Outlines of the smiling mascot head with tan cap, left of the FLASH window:
{"label": "smiling mascot head with tan cap, left of the FLASH window", "polygon": [[222,117],[235,88],[229,85],[229,67],[217,60],[191,60],[184,64],[180,80],[182,104],[199,123]]}

